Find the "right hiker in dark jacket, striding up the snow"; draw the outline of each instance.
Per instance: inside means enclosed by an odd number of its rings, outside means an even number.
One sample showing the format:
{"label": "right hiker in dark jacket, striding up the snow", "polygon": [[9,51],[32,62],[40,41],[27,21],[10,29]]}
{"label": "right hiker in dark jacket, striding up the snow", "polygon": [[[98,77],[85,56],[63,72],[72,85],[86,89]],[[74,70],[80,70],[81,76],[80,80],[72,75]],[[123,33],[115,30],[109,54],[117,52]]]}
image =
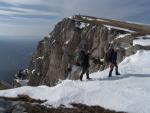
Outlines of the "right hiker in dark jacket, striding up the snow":
{"label": "right hiker in dark jacket, striding up the snow", "polygon": [[112,45],[108,48],[106,54],[105,54],[105,61],[109,64],[110,71],[109,71],[109,77],[112,76],[112,71],[115,67],[116,75],[120,75],[118,72],[118,65],[117,65],[117,51],[118,48],[114,49]]}

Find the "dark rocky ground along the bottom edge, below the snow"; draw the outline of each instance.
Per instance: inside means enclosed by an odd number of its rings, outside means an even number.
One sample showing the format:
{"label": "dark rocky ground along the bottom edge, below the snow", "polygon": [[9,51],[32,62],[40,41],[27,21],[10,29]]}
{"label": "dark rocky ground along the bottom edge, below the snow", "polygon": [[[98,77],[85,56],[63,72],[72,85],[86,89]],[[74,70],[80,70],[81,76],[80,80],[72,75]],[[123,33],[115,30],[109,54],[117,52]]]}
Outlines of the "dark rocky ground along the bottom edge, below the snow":
{"label": "dark rocky ground along the bottom edge, below the snow", "polygon": [[0,99],[0,113],[126,113],[116,112],[100,106],[88,106],[83,104],[72,104],[72,108],[64,105],[60,107],[46,107],[39,103],[30,103],[21,100]]}

